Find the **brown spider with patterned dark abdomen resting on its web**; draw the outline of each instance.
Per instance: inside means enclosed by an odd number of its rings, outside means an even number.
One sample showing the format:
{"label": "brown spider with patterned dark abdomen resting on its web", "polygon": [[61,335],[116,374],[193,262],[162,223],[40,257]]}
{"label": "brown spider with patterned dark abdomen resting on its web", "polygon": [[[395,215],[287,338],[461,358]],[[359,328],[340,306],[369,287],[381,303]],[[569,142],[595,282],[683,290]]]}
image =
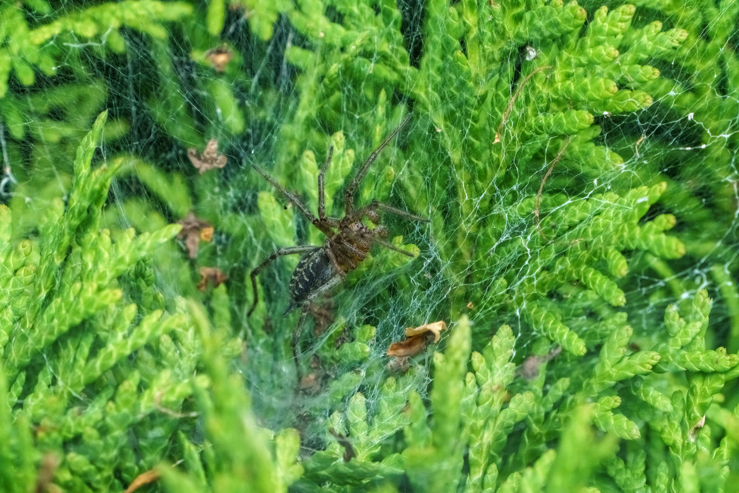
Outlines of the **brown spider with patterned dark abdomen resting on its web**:
{"label": "brown spider with patterned dark abdomen resting on its web", "polygon": [[[378,245],[395,250],[401,254],[412,256],[406,251],[403,251],[390,243],[379,239],[379,237],[387,237],[387,228],[380,224],[380,216],[377,212],[381,209],[392,214],[398,214],[415,221],[429,222],[429,220],[423,217],[418,217],[409,212],[403,211],[392,207],[391,205],[385,205],[378,203],[377,200],[372,200],[372,203],[365,205],[362,208],[357,208],[355,204],[354,192],[357,186],[367,174],[369,166],[375,162],[378,155],[382,150],[390,143],[393,137],[398,134],[398,131],[405,125],[410,119],[411,115],[406,116],[397,129],[393,130],[380,146],[375,149],[372,154],[369,154],[367,160],[364,161],[358,173],[351,181],[347,190],[344,192],[344,217],[341,219],[336,217],[326,216],[326,205],[324,202],[324,174],[331,163],[331,157],[333,155],[333,147],[328,153],[328,159],[326,163],[321,167],[319,173],[319,217],[313,215],[312,212],[292,193],[285,190],[279,185],[270,175],[259,169],[257,166],[253,166],[259,174],[265,177],[270,185],[277,188],[282,194],[290,200],[299,211],[303,213],[305,217],[316,228],[319,228],[323,234],[326,235],[326,241],[322,247],[316,247],[313,245],[302,245],[287,248],[278,248],[276,251],[265,259],[264,262],[259,264],[253,271],[251,271],[251,288],[254,293],[254,302],[251,305],[251,309],[247,313],[247,316],[251,316],[251,313],[256,307],[257,293],[256,293],[256,276],[262,271],[270,262],[282,255],[293,255],[293,254],[307,254],[300,262],[298,262],[293,276],[290,278],[290,303],[287,305],[287,309],[283,315],[287,315],[291,311],[295,310],[296,307],[301,307],[300,318],[295,332],[293,333],[292,347],[293,356],[295,358],[295,364],[298,373],[298,381],[300,381],[300,363],[299,363],[299,347],[300,333],[302,332],[303,323],[305,316],[308,312],[310,302],[326,293],[328,290],[338,285],[347,272],[353,271],[357,268],[359,262],[367,257],[367,252],[372,242],[378,243]],[[362,218],[368,217],[370,221],[377,224],[375,228],[368,228],[361,221]],[[334,229],[338,231],[334,231]]]}

